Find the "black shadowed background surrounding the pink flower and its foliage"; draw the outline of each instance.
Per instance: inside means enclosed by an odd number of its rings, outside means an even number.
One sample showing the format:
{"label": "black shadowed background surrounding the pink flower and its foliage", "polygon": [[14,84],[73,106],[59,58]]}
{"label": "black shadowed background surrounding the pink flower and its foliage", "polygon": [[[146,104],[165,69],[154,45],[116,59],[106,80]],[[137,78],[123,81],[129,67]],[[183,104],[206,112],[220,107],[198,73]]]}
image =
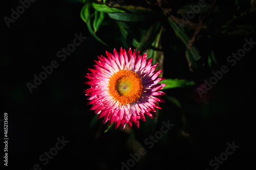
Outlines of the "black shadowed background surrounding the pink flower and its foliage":
{"label": "black shadowed background surrounding the pink flower and its foliage", "polygon": [[[114,47],[119,52],[121,44],[106,47],[91,36],[80,18],[82,3],[37,0],[8,28],[3,18],[10,17],[11,9],[18,6],[19,1],[1,5],[0,118],[8,113],[8,168],[33,169],[34,164],[39,164],[42,169],[121,169],[121,162],[130,159],[129,154],[138,152],[142,144],[147,154],[131,169],[213,169],[209,161],[225,152],[227,142],[233,141],[239,149],[218,169],[253,168],[255,46],[235,66],[229,65],[229,72],[203,99],[196,88],[212,76],[211,71],[203,69],[191,74],[187,64],[183,64],[183,53],[166,52],[163,77],[196,82],[193,87],[165,91],[180,101],[182,109],[161,103],[162,112],[153,132],[146,131],[144,122],[140,122],[141,128],[133,126],[132,135],[131,131],[120,129],[104,133],[107,126],[102,125],[102,119],[89,128],[94,111],[89,110],[91,106],[83,93],[89,88],[83,84],[87,81],[84,76],[88,67],[93,68],[97,56],[105,56],[105,51],[112,53]],[[107,30],[104,34],[108,34]],[[57,52],[73,43],[74,34],[80,33],[87,39],[61,61]],[[216,37],[211,44],[201,41],[201,47],[214,46],[220,65],[228,65],[226,58],[250,37],[256,41],[255,36]],[[174,44],[184,48],[181,42]],[[41,67],[53,60],[59,66],[30,93],[26,83],[33,83],[33,75],[38,76],[43,71]],[[168,119],[174,128],[148,149],[144,140],[159,131],[161,122]],[[2,134],[3,130],[1,140]],[[44,165],[39,156],[55,147],[58,137],[69,142]]]}

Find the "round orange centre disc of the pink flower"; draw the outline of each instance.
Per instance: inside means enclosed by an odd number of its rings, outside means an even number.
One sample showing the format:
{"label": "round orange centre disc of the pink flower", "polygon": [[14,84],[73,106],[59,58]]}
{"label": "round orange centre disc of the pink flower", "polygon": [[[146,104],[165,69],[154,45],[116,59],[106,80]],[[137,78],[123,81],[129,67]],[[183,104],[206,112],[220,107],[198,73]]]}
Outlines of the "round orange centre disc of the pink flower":
{"label": "round orange centre disc of the pink flower", "polygon": [[109,94],[124,105],[131,104],[140,98],[143,84],[136,72],[120,70],[110,78],[108,87]]}

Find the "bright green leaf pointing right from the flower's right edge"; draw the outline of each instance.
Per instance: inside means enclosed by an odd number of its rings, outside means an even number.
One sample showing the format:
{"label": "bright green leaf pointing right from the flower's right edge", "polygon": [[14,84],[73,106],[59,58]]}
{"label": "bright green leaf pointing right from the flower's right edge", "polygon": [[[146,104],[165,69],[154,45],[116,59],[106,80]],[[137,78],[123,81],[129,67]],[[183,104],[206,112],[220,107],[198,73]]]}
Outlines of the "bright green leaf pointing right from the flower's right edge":
{"label": "bright green leaf pointing right from the flower's right edge", "polygon": [[166,86],[163,87],[163,90],[195,85],[195,82],[183,80],[183,79],[165,79],[165,80],[162,80],[160,83],[166,84]]}

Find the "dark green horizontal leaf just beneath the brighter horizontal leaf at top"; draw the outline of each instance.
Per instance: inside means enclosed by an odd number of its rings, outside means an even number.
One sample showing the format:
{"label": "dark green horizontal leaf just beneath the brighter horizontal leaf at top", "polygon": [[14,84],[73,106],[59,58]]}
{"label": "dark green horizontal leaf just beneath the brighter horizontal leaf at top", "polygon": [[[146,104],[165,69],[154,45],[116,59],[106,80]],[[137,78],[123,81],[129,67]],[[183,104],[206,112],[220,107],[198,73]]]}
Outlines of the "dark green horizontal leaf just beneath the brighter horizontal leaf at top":
{"label": "dark green horizontal leaf just beneath the brighter horizontal leaf at top", "polygon": [[108,13],[109,17],[116,20],[135,22],[147,19],[146,15],[132,14],[132,13]]}

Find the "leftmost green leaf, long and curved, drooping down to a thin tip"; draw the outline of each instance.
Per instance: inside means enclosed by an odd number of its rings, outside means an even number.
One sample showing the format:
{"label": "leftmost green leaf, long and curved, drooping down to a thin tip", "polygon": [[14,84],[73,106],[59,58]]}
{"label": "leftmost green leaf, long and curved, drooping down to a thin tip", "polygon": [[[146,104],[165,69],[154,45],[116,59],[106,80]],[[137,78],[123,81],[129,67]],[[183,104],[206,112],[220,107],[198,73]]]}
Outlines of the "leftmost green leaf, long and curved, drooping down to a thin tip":
{"label": "leftmost green leaf, long and curved, drooping down to a thin tip", "polygon": [[88,28],[89,32],[92,34],[92,36],[94,38],[96,38],[99,42],[101,42],[102,44],[106,45],[106,43],[104,43],[93,31],[93,28],[91,25],[91,16],[90,16],[91,7],[92,7],[91,4],[86,4],[83,6],[81,13],[80,13],[81,18],[83,21],[85,21],[87,23],[87,28]]}

